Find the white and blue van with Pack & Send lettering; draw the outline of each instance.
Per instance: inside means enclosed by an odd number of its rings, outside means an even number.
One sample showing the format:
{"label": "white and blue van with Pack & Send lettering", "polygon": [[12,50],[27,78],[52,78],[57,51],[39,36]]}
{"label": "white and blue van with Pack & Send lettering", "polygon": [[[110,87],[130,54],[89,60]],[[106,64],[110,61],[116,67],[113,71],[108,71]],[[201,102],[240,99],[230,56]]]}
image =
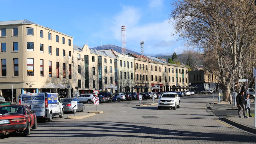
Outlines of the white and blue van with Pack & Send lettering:
{"label": "white and blue van with Pack & Send lettering", "polygon": [[63,117],[64,111],[61,98],[58,93],[28,93],[20,94],[19,105],[28,105],[31,110],[36,111],[37,118],[44,118],[48,122],[53,116]]}

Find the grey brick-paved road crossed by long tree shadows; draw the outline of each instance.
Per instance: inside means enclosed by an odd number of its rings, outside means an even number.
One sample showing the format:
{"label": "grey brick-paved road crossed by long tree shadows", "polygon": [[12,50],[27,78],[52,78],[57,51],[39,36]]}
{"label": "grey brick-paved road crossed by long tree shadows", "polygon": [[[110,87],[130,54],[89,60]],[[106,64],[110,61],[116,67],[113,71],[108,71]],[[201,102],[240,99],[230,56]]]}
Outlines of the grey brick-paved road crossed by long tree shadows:
{"label": "grey brick-paved road crossed by long tree shadows", "polygon": [[[158,99],[157,99],[158,100]],[[217,100],[217,97],[216,97]],[[256,135],[222,121],[208,113],[212,95],[181,97],[181,108],[161,109],[157,105],[138,107],[140,101],[98,105],[104,113],[84,119],[53,118],[38,123],[30,136],[2,137],[1,143],[255,143]],[[152,103],[151,100],[142,100]],[[86,104],[87,111],[96,105]],[[76,115],[83,115],[78,112]]]}

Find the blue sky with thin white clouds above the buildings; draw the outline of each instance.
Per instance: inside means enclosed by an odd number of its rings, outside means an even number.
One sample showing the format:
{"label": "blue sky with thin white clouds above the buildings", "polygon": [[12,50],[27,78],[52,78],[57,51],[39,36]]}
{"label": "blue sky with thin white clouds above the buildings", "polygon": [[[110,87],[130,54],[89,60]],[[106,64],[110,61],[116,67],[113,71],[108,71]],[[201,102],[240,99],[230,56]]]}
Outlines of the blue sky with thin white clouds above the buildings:
{"label": "blue sky with thin white clouds above the buildings", "polygon": [[73,44],[89,48],[122,47],[121,26],[126,26],[126,48],[144,55],[181,54],[184,46],[171,35],[170,0],[0,0],[0,21],[30,20],[73,37]]}

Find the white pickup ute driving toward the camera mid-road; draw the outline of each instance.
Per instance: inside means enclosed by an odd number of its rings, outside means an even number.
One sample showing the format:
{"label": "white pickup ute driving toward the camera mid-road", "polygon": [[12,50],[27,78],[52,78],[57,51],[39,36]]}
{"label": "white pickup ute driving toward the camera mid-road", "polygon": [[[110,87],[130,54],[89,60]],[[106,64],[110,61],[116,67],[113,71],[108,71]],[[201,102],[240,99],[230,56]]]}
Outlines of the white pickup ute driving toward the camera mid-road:
{"label": "white pickup ute driving toward the camera mid-road", "polygon": [[180,108],[180,97],[176,92],[168,92],[162,94],[161,98],[158,100],[158,109],[162,107],[173,107],[173,110]]}

